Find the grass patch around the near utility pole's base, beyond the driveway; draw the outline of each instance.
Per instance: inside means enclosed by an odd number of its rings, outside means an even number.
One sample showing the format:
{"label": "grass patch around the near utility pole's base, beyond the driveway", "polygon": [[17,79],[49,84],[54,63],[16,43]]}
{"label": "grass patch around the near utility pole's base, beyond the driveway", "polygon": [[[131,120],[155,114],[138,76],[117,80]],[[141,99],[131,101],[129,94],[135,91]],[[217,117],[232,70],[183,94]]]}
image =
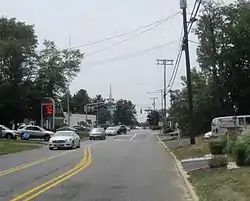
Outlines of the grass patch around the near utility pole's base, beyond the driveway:
{"label": "grass patch around the near utility pole's base, beyond the driveway", "polygon": [[195,145],[182,145],[180,147],[173,146],[173,143],[176,144],[174,141],[163,141],[175,154],[175,156],[182,160],[187,158],[195,158],[201,157],[206,154],[210,154],[208,141],[202,140],[202,137],[196,137],[196,144]]}

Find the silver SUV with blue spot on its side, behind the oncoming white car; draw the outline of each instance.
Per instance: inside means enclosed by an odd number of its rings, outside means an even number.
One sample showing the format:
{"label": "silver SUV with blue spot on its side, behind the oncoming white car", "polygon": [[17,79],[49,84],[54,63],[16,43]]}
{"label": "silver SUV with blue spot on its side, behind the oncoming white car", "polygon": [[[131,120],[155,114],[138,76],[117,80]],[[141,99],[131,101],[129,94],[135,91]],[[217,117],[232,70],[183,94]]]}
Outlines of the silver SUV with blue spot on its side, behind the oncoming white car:
{"label": "silver SUV with blue spot on its side, behind the oncoming white car", "polygon": [[29,139],[38,138],[38,139],[44,139],[44,141],[49,141],[50,138],[54,135],[54,132],[45,130],[44,128],[40,126],[34,126],[34,125],[27,125],[22,128],[19,127],[18,132],[21,135],[21,139],[24,139],[23,138],[24,133],[28,132]]}

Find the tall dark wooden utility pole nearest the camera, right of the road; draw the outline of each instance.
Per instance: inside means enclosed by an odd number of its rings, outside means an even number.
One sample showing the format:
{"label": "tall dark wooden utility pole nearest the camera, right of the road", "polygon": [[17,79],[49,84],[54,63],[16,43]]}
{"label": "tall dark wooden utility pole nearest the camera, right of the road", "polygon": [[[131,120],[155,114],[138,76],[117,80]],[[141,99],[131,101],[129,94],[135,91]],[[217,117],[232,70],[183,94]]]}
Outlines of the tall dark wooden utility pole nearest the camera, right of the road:
{"label": "tall dark wooden utility pole nearest the camera, right of the road", "polygon": [[183,29],[184,38],[183,45],[186,56],[186,72],[187,72],[187,88],[188,88],[188,132],[190,136],[190,144],[195,144],[195,134],[193,132],[193,94],[192,94],[192,83],[191,83],[191,70],[190,70],[190,58],[189,58],[189,47],[188,47],[188,28],[187,28],[187,1],[180,0],[180,8],[182,9],[183,15]]}

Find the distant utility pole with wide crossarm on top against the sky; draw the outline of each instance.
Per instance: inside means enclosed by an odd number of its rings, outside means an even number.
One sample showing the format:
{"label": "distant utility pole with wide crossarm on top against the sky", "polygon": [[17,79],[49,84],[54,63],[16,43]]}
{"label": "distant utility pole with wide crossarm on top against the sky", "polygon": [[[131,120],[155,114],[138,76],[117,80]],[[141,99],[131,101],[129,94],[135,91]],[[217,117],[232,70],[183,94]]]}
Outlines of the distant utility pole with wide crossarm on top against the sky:
{"label": "distant utility pole with wide crossarm on top against the sky", "polygon": [[173,65],[173,61],[172,59],[157,59],[157,65],[162,65],[164,66],[164,77],[163,77],[163,82],[164,82],[164,86],[163,86],[163,99],[164,99],[164,111],[163,111],[163,115],[164,115],[164,119],[166,118],[166,109],[167,109],[167,100],[166,100],[166,82],[167,82],[167,70],[166,67],[169,65]]}

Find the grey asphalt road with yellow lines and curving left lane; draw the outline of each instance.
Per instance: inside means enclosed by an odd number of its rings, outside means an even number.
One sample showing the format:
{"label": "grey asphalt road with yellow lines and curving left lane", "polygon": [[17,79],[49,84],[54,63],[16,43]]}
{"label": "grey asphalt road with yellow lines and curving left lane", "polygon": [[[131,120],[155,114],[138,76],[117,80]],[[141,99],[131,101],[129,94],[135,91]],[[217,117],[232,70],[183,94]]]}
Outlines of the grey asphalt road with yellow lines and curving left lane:
{"label": "grey asphalt road with yellow lines and curving left lane", "polygon": [[0,157],[2,201],[183,201],[187,193],[171,156],[150,130],[80,149],[48,147]]}

